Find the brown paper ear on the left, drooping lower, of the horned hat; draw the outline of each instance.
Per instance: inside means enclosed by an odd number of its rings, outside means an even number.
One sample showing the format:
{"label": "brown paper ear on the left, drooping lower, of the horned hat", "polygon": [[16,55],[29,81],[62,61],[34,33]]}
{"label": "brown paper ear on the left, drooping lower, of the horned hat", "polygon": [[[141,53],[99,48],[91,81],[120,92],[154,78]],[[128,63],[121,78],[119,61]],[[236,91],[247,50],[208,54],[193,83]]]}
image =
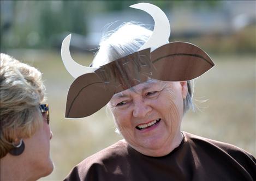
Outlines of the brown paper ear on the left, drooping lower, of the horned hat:
{"label": "brown paper ear on the left, drooping lower, of the horned hat", "polygon": [[110,101],[114,92],[115,89],[102,82],[96,73],[83,74],[70,85],[65,117],[92,115]]}

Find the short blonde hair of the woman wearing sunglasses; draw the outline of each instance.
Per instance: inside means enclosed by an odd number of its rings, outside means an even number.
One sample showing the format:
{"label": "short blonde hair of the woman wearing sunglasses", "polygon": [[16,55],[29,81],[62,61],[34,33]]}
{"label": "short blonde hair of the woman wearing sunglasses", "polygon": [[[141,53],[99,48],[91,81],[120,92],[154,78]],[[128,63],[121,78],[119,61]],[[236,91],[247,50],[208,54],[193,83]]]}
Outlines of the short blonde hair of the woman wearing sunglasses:
{"label": "short blonde hair of the woman wearing sunglasses", "polygon": [[15,139],[32,136],[42,125],[39,104],[45,99],[41,72],[1,53],[0,151],[3,158]]}

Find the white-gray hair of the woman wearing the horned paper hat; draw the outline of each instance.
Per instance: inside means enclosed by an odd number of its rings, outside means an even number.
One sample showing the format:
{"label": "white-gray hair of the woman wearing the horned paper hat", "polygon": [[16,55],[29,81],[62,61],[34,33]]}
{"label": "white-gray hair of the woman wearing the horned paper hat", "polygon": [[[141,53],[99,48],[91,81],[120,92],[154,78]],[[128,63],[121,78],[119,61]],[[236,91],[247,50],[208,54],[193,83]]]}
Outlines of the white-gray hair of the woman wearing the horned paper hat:
{"label": "white-gray hair of the woman wearing the horned paper hat", "polygon": [[[99,43],[99,51],[93,59],[92,67],[100,67],[118,58],[132,54],[139,50],[150,38],[152,31],[142,24],[128,22],[121,25],[114,31],[107,32]],[[188,81],[188,94],[183,101],[183,113],[190,108],[194,110],[192,102],[194,86]]]}

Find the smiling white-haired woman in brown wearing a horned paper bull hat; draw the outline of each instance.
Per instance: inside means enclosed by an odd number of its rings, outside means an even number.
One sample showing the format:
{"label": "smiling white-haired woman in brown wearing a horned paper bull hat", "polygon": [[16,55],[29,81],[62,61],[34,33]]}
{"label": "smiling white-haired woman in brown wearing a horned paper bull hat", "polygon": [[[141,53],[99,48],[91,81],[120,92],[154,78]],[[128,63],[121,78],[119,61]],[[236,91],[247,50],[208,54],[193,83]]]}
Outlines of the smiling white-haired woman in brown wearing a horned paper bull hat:
{"label": "smiling white-haired woman in brown wearing a horned paper bull hat", "polygon": [[70,35],[63,41],[63,62],[76,78],[66,117],[85,117],[108,103],[124,138],[86,158],[65,180],[255,180],[248,152],[181,132],[193,107],[190,80],[214,65],[210,57],[190,43],[168,43],[169,22],[159,8],[132,7],[153,16],[154,31],[124,24],[103,38],[91,67],[74,65]]}

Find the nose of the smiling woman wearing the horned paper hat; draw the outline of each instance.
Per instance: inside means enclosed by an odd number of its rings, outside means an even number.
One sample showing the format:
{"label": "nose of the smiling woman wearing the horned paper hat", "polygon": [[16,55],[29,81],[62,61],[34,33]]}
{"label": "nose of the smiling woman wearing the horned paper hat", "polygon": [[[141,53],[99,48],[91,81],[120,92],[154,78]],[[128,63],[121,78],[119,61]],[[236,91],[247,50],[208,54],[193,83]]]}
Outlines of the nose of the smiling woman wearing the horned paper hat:
{"label": "nose of the smiling woman wearing the horned paper hat", "polygon": [[136,101],[134,102],[133,116],[138,118],[146,117],[147,113],[152,110],[150,105],[145,103],[144,101]]}

